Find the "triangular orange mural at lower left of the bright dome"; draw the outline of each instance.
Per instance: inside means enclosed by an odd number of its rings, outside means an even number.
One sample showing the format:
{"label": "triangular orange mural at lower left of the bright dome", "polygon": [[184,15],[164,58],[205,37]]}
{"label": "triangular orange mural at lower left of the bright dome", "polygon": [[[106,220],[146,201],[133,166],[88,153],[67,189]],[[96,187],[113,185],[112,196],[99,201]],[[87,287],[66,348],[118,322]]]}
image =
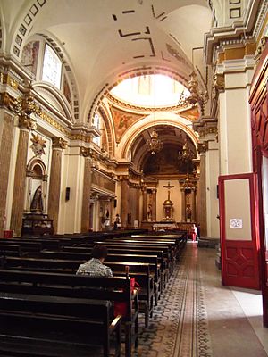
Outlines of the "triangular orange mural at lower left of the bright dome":
{"label": "triangular orange mural at lower left of the bright dome", "polygon": [[144,118],[144,115],[121,111],[121,109],[115,108],[114,106],[111,106],[110,110],[113,116],[115,139],[117,143],[120,142],[122,135],[132,124]]}

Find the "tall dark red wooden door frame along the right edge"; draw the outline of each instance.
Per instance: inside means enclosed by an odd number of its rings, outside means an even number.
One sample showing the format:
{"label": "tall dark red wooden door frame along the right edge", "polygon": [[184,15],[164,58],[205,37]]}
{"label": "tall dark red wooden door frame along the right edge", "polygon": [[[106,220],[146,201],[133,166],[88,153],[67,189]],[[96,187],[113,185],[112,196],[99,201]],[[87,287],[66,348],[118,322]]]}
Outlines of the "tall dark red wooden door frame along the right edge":
{"label": "tall dark red wooden door frame along the right edge", "polygon": [[[264,45],[264,44],[263,44]],[[258,179],[258,219],[260,272],[263,293],[264,326],[268,328],[268,41],[252,79],[251,110],[253,170]]]}

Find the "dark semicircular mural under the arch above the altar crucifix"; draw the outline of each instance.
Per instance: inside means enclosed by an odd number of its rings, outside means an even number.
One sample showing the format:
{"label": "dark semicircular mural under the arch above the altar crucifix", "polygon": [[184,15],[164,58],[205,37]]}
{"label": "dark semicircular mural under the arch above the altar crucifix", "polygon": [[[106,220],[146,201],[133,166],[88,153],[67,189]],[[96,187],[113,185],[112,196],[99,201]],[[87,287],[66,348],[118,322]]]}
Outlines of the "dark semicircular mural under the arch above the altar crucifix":
{"label": "dark semicircular mural under the arch above the altar crucifix", "polygon": [[155,155],[149,155],[143,166],[146,175],[180,174],[193,171],[192,162],[179,162],[178,147],[163,145],[163,150]]}

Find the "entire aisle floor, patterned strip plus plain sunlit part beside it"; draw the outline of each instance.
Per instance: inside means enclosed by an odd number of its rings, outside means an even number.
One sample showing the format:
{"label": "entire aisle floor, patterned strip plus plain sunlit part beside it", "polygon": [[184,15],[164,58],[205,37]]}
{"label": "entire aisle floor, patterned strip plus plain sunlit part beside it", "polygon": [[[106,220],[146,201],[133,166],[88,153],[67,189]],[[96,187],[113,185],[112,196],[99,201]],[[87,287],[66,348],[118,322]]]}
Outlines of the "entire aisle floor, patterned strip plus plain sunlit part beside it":
{"label": "entire aisle floor, patterned strip plus plain sunlit part beside it", "polygon": [[135,357],[267,356],[214,258],[213,249],[187,244]]}

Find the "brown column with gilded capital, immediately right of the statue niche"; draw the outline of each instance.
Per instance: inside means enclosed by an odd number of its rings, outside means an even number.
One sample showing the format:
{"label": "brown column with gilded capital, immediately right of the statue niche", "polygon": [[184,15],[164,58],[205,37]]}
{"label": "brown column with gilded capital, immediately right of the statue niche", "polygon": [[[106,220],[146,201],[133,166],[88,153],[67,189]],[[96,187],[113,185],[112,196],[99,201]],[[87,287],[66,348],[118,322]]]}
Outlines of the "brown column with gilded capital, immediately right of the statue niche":
{"label": "brown column with gilded capital, immediately right of the statue niche", "polygon": [[50,181],[48,194],[48,216],[53,220],[54,232],[57,233],[60,196],[61,196],[61,179],[62,179],[62,155],[63,149],[67,147],[67,142],[61,137],[52,137],[52,159],[50,167]]}

